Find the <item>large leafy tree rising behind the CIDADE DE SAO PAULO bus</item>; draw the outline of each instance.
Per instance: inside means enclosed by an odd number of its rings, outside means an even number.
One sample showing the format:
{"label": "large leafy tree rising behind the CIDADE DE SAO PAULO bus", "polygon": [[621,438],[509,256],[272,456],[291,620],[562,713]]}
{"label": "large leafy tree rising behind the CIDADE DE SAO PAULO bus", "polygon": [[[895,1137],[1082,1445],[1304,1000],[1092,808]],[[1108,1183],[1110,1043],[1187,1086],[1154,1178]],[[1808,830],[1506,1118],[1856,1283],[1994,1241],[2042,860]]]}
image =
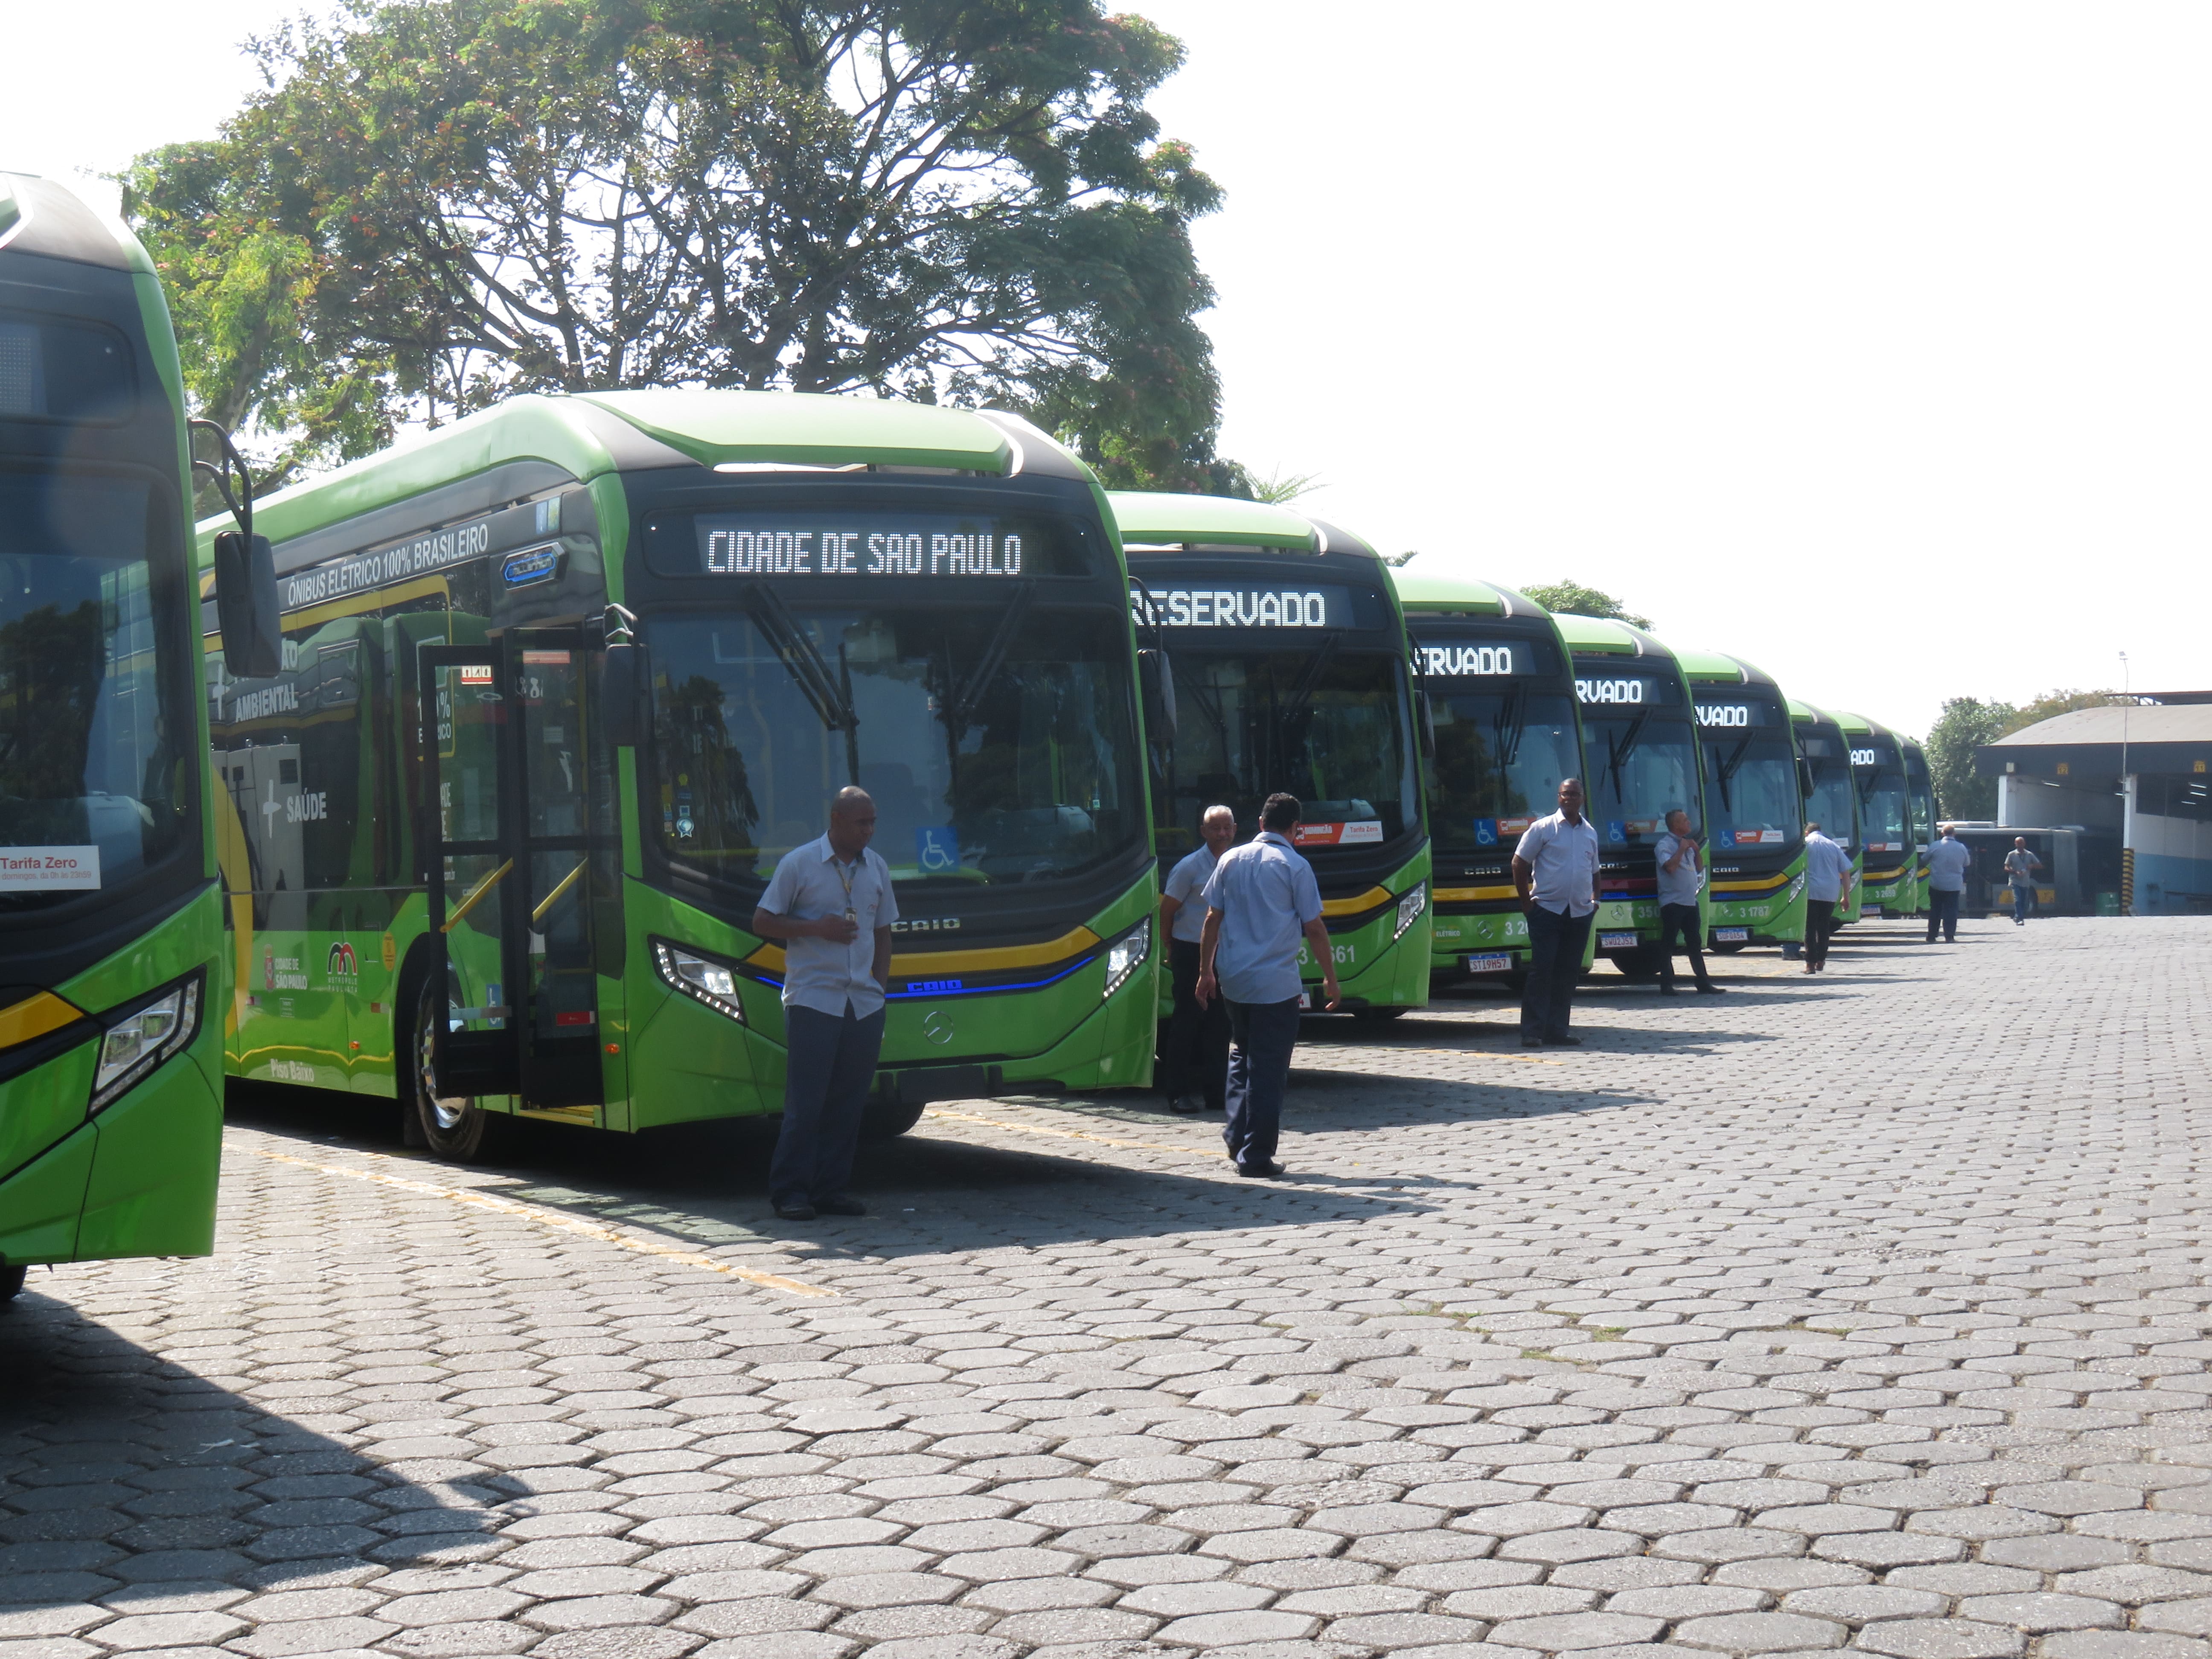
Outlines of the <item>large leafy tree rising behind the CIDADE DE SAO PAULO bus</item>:
{"label": "large leafy tree rising behind the CIDADE DE SAO PAULO bus", "polygon": [[1097,0],[354,0],[124,177],[195,400],[276,473],[515,392],[998,403],[1115,484],[1214,453],[1219,190]]}

